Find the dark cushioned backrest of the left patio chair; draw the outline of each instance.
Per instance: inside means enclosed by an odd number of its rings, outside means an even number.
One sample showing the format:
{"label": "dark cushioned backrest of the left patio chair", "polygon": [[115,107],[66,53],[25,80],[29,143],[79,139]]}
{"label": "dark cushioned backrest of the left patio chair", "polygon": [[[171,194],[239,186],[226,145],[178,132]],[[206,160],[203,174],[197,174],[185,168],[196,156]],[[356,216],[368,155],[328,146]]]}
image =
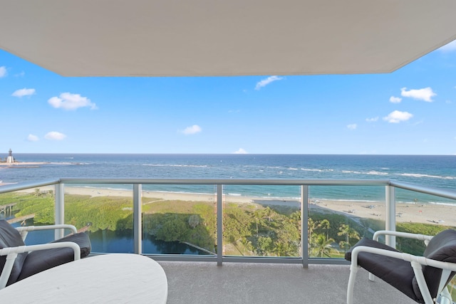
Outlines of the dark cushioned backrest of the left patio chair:
{"label": "dark cushioned backrest of the left patio chair", "polygon": [[[16,247],[16,246],[24,246],[25,243],[22,241],[21,234],[19,231],[14,229],[7,221],[4,219],[0,219],[0,249],[6,247]],[[17,281],[19,275],[22,271],[22,266],[24,265],[24,261],[26,259],[27,253],[19,253],[16,260],[14,261],[14,266],[9,276],[8,283],[6,285],[10,285]],[[0,273],[3,271],[3,268],[6,263],[6,256],[0,256]]]}

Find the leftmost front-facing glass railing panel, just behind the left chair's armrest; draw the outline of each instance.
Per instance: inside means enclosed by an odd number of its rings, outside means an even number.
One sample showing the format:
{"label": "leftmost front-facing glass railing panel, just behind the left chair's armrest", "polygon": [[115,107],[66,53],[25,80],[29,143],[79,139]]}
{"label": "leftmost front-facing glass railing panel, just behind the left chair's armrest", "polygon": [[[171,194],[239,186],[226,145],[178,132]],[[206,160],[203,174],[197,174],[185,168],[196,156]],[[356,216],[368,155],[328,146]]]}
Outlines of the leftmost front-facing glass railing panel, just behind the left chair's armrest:
{"label": "leftmost front-facing glass railing panel, just behind the left chair's armrest", "polygon": [[65,224],[86,231],[92,253],[133,253],[133,186],[66,184]]}

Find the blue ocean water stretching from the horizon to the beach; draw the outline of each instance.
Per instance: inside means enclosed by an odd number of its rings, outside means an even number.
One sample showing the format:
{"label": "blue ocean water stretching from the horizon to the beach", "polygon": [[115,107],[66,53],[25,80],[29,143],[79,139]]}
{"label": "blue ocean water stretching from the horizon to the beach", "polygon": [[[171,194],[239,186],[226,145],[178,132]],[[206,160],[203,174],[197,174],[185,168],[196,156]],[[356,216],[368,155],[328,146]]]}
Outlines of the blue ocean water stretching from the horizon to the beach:
{"label": "blue ocean water stretching from the horizon to the beach", "polygon": [[[5,158],[7,155],[0,155]],[[0,181],[35,182],[59,177],[166,179],[393,179],[456,189],[456,156],[311,154],[14,154],[19,162],[0,166]],[[94,187],[95,185],[81,185]],[[103,187],[103,185],[97,185]],[[131,189],[128,185],[104,187]],[[145,185],[145,190],[214,193],[205,185]],[[240,196],[297,198],[299,187],[225,186]],[[384,187],[311,187],[314,199],[378,201]],[[456,201],[398,190],[398,201],[456,204]]]}

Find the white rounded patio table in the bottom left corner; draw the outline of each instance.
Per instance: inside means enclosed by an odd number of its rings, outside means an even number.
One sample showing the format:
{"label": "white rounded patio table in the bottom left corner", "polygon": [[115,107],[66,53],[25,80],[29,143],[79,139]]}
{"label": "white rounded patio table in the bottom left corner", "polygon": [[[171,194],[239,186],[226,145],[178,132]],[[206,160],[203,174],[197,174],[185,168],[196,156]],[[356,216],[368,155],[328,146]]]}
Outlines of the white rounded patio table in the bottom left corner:
{"label": "white rounded patio table in the bottom left corner", "polygon": [[151,258],[111,253],[57,266],[0,290],[1,303],[166,303],[167,278]]}

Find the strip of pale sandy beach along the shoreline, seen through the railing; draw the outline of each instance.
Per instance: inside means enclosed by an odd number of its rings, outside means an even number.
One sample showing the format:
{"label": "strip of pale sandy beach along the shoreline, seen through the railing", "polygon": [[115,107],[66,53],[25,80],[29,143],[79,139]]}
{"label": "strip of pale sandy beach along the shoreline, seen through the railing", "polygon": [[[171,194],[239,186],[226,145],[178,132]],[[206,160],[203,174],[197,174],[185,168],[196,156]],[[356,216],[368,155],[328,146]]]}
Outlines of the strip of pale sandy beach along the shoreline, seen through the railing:
{"label": "strip of pale sandy beach along the shoreline, seen through the railing", "polygon": [[[43,190],[53,190],[52,186],[41,187]],[[24,190],[33,192],[34,189]],[[83,187],[66,187],[67,194],[81,194],[90,196],[132,196],[132,191],[120,189],[100,189]],[[208,201],[215,202],[215,194],[190,194],[176,192],[152,192],[143,191],[142,197],[150,198],[153,201],[180,200],[180,201]],[[294,206],[299,208],[299,201],[283,199],[267,199],[248,196],[223,196],[225,203],[237,204],[259,204]],[[456,226],[456,204],[455,206],[441,204],[396,204],[395,219],[397,222],[415,222],[424,224],[440,224],[445,226]],[[309,213],[312,212],[337,212],[346,216],[385,220],[385,204],[373,201],[334,201],[311,199],[309,202]]]}

